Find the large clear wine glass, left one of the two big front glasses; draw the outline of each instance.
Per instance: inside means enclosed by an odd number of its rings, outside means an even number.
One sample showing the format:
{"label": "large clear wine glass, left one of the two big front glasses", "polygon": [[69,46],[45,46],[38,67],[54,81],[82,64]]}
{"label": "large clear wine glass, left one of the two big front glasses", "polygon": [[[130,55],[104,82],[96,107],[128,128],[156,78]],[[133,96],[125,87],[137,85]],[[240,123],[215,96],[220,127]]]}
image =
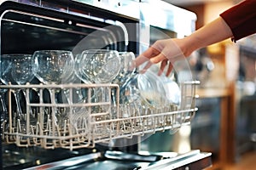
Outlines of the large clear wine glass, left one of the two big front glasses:
{"label": "large clear wine glass, left one of the two big front glasses", "polygon": [[[39,50],[32,56],[32,71],[35,77],[44,84],[61,84],[62,80],[70,77],[74,69],[73,54],[67,50]],[[50,88],[49,96],[52,104],[60,103],[59,93],[61,89]],[[67,118],[65,111],[57,110],[52,107],[53,128],[61,125]],[[53,129],[54,131],[54,129]]]}

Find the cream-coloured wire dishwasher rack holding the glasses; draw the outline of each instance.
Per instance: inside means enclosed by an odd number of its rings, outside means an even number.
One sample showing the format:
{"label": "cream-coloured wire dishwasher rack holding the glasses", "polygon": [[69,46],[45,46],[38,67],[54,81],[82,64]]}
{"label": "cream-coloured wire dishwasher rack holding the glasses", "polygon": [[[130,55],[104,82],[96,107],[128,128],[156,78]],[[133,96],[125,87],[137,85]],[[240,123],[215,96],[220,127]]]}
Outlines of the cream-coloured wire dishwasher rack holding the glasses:
{"label": "cream-coloured wire dishwasher rack holding the glasses", "polygon": [[[15,143],[20,147],[73,150],[94,147],[96,143],[108,143],[112,139],[177,130],[189,124],[197,111],[195,86],[198,83],[180,83],[181,104],[170,104],[163,108],[119,104],[117,84],[0,86],[7,89],[8,99],[8,112],[3,113],[7,114],[2,122],[3,142]],[[22,115],[12,104],[12,94],[17,89],[22,89],[26,96]],[[31,99],[32,91],[38,93],[36,102]],[[51,92],[50,101],[45,101],[45,91]],[[61,94],[65,100],[58,102],[55,94]]]}

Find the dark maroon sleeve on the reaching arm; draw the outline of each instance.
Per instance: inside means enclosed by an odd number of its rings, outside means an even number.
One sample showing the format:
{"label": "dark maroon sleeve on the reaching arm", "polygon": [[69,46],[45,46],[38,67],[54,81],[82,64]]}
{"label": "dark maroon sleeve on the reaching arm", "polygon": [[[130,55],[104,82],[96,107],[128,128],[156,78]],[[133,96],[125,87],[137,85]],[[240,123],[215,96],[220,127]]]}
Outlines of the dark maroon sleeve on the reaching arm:
{"label": "dark maroon sleeve on the reaching arm", "polygon": [[256,33],[256,0],[245,0],[220,14],[233,33],[233,40]]}

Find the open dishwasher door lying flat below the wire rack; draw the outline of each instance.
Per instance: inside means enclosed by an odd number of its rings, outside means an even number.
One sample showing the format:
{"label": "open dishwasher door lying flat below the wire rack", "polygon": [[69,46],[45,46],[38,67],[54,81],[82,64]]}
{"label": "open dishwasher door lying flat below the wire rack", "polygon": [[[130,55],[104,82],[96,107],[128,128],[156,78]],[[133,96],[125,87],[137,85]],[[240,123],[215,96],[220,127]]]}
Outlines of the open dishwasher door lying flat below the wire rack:
{"label": "open dishwasher door lying flat below the wire rack", "polygon": [[175,152],[154,153],[152,155],[131,154],[121,151],[107,150],[85,156],[76,156],[62,161],[50,162],[32,169],[131,169],[131,170],[177,170],[205,169],[212,165],[211,153],[192,150],[178,155]]}

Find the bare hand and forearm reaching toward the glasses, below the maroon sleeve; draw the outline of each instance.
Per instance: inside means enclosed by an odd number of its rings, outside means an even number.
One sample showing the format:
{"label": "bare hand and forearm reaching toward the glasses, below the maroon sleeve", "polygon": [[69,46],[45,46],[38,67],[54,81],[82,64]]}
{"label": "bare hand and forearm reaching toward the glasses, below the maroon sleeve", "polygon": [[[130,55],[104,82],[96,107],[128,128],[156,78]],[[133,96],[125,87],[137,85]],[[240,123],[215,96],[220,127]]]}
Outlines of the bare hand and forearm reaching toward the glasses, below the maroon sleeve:
{"label": "bare hand and forearm reaching toward the glasses, below the maroon sleeve", "polygon": [[196,49],[207,47],[229,37],[233,37],[230,27],[221,17],[218,17],[188,37],[163,39],[154,42],[150,48],[135,59],[135,65],[139,66],[148,62],[143,67],[143,71],[146,71],[150,65],[160,63],[159,75],[168,66],[166,76],[169,76],[172,65],[177,59],[184,59]]}

